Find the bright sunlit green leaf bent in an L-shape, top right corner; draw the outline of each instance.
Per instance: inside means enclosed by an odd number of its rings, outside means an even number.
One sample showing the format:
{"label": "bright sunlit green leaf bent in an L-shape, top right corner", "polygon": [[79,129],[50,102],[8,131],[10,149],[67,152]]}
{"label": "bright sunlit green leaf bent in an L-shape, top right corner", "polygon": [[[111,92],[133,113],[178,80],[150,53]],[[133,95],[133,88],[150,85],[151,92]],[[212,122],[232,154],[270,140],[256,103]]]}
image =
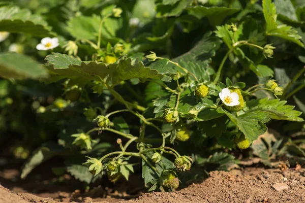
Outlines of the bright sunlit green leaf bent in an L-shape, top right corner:
{"label": "bright sunlit green leaf bent in an L-shape, top right corner", "polygon": [[292,29],[291,26],[287,26],[285,24],[277,24],[277,10],[275,4],[272,3],[271,0],[263,0],[262,4],[267,28],[266,35],[279,37],[304,47],[304,44],[300,41],[301,37],[297,34],[296,30]]}

